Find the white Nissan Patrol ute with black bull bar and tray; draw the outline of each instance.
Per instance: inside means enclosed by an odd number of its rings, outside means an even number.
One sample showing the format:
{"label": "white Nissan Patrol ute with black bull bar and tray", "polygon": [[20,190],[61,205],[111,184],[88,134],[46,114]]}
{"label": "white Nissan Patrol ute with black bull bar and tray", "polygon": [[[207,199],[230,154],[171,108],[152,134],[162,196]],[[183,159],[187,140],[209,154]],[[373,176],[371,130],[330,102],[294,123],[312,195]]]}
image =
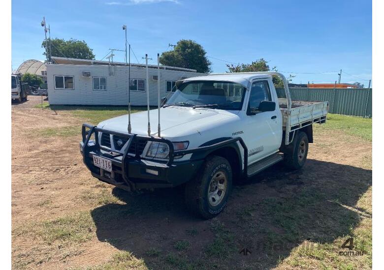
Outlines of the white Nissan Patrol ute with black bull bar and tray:
{"label": "white Nissan Patrol ute with black bull bar and tray", "polygon": [[[272,82],[279,76],[286,98]],[[325,123],[328,102],[291,101],[277,72],[210,74],[176,82],[159,110],[83,124],[80,151],[99,180],[122,189],[185,185],[187,207],[212,218],[227,203],[232,182],[282,162],[300,169]],[[161,128],[148,135],[148,122]],[[148,117],[148,119],[147,119]],[[160,133],[160,134],[159,134]]]}

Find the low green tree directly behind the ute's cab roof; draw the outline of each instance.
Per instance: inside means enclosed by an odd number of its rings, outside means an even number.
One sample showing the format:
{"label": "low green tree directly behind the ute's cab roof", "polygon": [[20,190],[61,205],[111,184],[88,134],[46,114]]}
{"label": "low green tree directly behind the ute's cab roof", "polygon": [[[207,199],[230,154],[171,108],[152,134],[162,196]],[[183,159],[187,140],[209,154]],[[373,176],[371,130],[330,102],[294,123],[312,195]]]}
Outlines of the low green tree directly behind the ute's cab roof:
{"label": "low green tree directly behind the ute's cab roof", "polygon": [[[272,69],[270,69],[268,65],[268,61],[266,61],[264,58],[257,59],[256,61],[253,61],[251,64],[238,64],[238,65],[226,65],[228,68],[228,73],[233,72],[260,72],[260,71],[278,71],[277,67],[274,66]],[[292,78],[294,76],[289,75],[289,78],[287,81],[292,81]],[[283,81],[278,76],[272,77],[273,84],[275,85],[275,88],[284,88]]]}

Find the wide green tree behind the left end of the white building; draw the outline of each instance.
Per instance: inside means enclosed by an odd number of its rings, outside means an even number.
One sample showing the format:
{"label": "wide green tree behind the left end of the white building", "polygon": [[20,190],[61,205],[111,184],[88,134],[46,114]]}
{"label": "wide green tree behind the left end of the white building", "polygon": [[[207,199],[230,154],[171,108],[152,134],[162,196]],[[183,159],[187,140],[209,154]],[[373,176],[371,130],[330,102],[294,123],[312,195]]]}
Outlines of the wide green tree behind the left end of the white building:
{"label": "wide green tree behind the left end of the white building", "polygon": [[[78,59],[95,59],[95,54],[93,49],[91,49],[88,44],[83,40],[69,39],[64,40],[60,38],[55,38],[51,40],[51,46],[49,46],[49,39],[47,42],[45,40],[42,42],[41,47],[45,49],[48,44],[48,56],[50,47],[52,49],[52,56],[60,57],[69,57],[69,58],[78,58]],[[44,55],[46,55],[46,50],[44,50]]]}

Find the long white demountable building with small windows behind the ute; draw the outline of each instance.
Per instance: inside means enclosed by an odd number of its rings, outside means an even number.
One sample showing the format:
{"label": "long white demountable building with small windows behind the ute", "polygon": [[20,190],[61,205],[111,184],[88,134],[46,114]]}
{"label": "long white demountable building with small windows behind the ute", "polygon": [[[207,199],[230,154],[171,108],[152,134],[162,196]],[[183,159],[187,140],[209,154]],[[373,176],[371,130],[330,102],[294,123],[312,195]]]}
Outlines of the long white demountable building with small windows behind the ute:
{"label": "long white demountable building with small windows behind the ute", "polygon": [[[128,105],[128,66],[125,63],[52,57],[46,64],[48,99],[52,105]],[[158,104],[158,66],[148,65],[149,80],[143,64],[130,66],[130,101],[132,106]],[[160,65],[160,95],[168,97],[178,80],[202,76],[196,70]]]}

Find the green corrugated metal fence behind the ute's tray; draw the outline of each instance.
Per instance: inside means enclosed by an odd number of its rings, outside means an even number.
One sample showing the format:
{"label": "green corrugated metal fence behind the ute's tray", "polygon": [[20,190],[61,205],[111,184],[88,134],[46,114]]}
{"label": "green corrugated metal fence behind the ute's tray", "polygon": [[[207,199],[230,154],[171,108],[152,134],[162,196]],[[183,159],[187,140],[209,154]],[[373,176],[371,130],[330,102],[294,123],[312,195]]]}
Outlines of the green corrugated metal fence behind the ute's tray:
{"label": "green corrugated metal fence behind the ute's tray", "polygon": [[[289,88],[292,100],[328,101],[329,112],[372,117],[372,88]],[[284,89],[277,89],[285,98]]]}

